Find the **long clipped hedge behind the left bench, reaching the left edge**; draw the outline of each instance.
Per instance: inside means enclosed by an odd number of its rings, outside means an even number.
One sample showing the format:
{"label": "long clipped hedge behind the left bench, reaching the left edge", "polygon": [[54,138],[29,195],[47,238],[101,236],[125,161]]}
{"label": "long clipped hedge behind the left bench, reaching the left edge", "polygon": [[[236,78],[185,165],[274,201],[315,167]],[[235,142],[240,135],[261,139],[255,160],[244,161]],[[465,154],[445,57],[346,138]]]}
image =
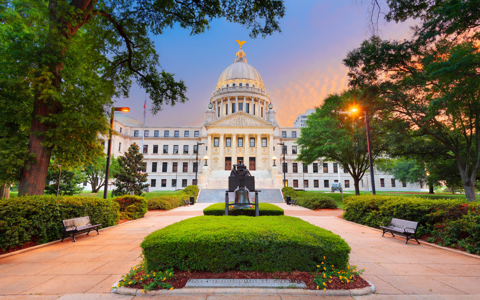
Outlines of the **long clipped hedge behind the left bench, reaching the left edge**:
{"label": "long clipped hedge behind the left bench, reaching the left edge", "polygon": [[116,224],[119,204],[111,199],[79,196],[24,196],[0,199],[0,249],[29,242],[38,243],[61,239],[61,221],[89,216],[102,227]]}

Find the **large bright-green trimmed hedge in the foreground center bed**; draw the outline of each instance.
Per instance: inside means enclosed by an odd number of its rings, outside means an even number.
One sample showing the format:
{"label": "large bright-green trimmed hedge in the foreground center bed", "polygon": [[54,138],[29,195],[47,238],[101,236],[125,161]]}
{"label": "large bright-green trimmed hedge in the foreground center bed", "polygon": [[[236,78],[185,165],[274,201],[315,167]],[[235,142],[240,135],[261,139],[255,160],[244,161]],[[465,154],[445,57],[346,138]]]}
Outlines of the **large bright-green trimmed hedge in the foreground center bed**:
{"label": "large bright-green trimmed hedge in the foreground center bed", "polygon": [[323,256],[345,268],[350,253],[338,235],[292,216],[197,216],[156,230],[140,246],[149,270],[314,271]]}

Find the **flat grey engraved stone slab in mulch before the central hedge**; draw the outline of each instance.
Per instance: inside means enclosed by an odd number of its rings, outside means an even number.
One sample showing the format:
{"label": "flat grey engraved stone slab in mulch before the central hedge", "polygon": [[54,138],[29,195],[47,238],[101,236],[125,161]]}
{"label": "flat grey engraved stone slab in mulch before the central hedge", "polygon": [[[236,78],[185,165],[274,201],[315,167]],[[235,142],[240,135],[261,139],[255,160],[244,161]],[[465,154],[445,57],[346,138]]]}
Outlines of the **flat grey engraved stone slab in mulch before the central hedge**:
{"label": "flat grey engraved stone slab in mulch before the central hedge", "polygon": [[290,279],[189,279],[185,288],[307,288]]}

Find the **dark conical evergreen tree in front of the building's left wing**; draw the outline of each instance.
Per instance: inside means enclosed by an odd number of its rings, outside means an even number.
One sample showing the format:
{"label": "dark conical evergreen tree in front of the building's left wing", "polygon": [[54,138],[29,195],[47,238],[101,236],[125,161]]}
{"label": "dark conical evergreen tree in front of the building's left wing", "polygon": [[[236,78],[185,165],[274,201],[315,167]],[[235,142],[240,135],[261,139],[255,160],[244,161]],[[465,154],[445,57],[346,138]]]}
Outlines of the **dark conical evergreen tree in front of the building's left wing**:
{"label": "dark conical evergreen tree in front of the building's left wing", "polygon": [[117,160],[119,170],[113,174],[116,179],[114,184],[117,187],[112,191],[112,196],[126,195],[134,192],[135,195],[141,196],[142,190],[150,184],[144,184],[147,181],[147,173],[142,170],[146,169],[147,163],[143,161],[144,155],[139,152],[140,147],[137,143],[133,143],[128,148],[125,156],[120,156]]}

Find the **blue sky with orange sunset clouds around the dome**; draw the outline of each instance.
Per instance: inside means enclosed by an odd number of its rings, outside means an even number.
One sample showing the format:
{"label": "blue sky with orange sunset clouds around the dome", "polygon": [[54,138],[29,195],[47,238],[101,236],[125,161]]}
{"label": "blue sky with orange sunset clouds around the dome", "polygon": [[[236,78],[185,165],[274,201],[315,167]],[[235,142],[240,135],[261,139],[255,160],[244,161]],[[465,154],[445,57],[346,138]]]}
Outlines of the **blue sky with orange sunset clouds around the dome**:
{"label": "blue sky with orange sunset clouds around the dome", "polygon": [[[249,29],[222,19],[195,36],[179,26],[151,36],[161,68],[184,80],[189,101],[153,115],[147,95],[145,125],[200,126],[218,77],[235,59],[237,39],[247,41],[242,47],[246,59],[260,72],[282,127],[292,127],[298,114],[321,105],[329,93],[347,88],[348,69],[342,60],[369,37],[368,7],[351,0],[286,0],[285,6],[282,32],[265,38],[252,39]],[[413,24],[381,20],[381,36],[408,38]],[[115,106],[130,107],[128,114],[142,121],[144,99],[144,90],[133,84],[128,98],[114,100]]]}

